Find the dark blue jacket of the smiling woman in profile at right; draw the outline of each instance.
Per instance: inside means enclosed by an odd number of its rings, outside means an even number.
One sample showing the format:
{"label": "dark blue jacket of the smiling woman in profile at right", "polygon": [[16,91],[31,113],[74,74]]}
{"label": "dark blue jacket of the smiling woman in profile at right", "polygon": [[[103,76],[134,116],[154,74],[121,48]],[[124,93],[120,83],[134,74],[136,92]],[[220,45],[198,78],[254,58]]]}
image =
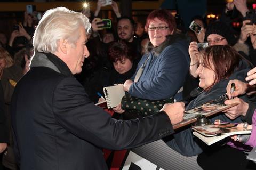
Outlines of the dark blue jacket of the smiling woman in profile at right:
{"label": "dark blue jacket of the smiling woman in profile at right", "polygon": [[[228,78],[228,79],[222,79],[220,82],[215,84],[210,91],[203,92],[199,96],[197,96],[196,99],[191,101],[186,110],[190,110],[192,108],[198,107],[202,105],[205,102],[208,102],[210,100],[218,99],[221,95],[226,93],[226,87],[231,79],[238,79],[241,81],[245,81],[245,77],[247,75],[247,72],[251,69],[249,64],[247,64],[245,61],[241,61],[239,66],[239,69],[236,69],[234,73]],[[245,98],[245,95],[242,96],[243,100],[247,100]],[[227,122],[234,122],[234,123],[241,123],[242,122],[242,116],[237,117],[234,120],[230,120],[226,117],[225,114],[219,114],[217,116],[214,116],[210,119],[211,122],[214,122],[214,120],[220,119]],[[168,141],[166,141],[166,144],[169,145],[170,148],[173,150],[181,153],[185,156],[195,156],[201,153],[206,147],[206,145],[197,137],[195,137],[192,134],[192,129],[189,127],[186,127],[184,129],[181,129],[181,131],[175,133],[173,135],[173,138]]]}

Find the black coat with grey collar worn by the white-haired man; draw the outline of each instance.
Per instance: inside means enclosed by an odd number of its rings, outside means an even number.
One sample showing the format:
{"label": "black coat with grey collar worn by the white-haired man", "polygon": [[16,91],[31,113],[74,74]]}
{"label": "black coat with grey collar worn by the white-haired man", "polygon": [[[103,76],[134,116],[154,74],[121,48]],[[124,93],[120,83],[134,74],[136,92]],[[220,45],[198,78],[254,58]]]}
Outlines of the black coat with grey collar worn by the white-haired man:
{"label": "black coat with grey collar worn by the white-haired man", "polygon": [[111,118],[90,101],[62,60],[46,55],[36,53],[13,93],[14,149],[21,170],[107,169],[102,147],[138,147],[173,133],[164,112],[129,121]]}

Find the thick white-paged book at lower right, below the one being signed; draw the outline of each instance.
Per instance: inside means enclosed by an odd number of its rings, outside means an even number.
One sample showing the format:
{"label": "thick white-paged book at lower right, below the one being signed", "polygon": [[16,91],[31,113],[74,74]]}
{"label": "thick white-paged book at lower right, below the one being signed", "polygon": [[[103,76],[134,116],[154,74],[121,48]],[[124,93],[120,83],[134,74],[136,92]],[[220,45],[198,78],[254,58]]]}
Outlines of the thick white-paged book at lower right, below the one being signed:
{"label": "thick white-paged book at lower right, below the one being signed", "polygon": [[235,124],[231,123],[193,126],[192,129],[194,130],[193,134],[207,145],[211,145],[231,135],[251,133],[251,130],[243,127],[238,128]]}

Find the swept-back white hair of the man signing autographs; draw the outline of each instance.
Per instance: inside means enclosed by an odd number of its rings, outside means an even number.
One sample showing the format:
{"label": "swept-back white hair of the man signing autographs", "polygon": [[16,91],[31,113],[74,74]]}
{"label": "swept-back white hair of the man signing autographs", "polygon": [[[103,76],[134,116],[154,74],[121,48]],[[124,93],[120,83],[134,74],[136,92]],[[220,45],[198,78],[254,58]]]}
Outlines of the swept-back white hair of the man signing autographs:
{"label": "swept-back white hair of the man signing autographs", "polygon": [[67,39],[76,44],[79,39],[79,28],[86,33],[91,30],[89,19],[82,13],[71,11],[66,7],[47,10],[36,27],[33,37],[35,52],[55,53],[60,39]]}

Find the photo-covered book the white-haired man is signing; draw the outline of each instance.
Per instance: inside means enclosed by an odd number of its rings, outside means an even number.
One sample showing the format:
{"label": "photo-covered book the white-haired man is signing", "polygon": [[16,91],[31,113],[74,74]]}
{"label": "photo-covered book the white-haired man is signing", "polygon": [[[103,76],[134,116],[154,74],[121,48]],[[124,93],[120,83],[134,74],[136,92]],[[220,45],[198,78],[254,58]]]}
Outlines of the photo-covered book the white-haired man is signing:
{"label": "photo-covered book the white-haired man is signing", "polygon": [[206,117],[209,117],[211,115],[222,112],[223,110],[226,110],[233,106],[236,106],[237,104],[239,104],[239,103],[233,103],[233,104],[226,105],[226,104],[215,103],[213,101],[207,102],[205,104],[202,104],[199,107],[185,111],[183,121],[178,124],[173,125],[173,129],[177,129],[177,128],[180,128],[180,127],[183,127],[188,124],[196,122],[197,117],[199,115],[205,115]]}

